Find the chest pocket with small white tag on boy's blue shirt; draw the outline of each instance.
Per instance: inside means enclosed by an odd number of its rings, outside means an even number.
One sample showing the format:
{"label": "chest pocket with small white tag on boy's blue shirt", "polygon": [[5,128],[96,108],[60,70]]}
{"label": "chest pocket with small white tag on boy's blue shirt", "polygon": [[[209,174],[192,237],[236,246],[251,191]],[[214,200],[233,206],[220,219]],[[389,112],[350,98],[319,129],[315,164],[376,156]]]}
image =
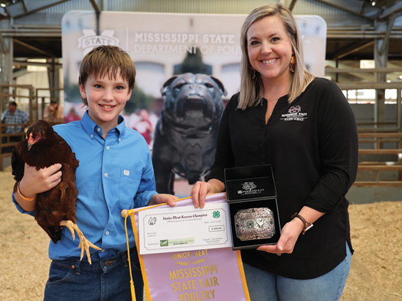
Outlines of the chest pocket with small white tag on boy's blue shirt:
{"label": "chest pocket with small white tag on boy's blue shirt", "polygon": [[128,204],[130,208],[134,206],[134,196],[137,193],[141,182],[141,171],[121,169],[119,180],[119,201]]}

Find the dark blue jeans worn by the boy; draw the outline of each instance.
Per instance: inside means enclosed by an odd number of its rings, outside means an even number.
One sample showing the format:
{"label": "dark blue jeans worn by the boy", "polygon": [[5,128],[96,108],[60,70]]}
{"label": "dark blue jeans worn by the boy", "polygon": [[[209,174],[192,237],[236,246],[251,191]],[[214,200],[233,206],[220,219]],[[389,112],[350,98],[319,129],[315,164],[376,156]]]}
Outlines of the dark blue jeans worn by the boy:
{"label": "dark blue jeans worn by the boy", "polygon": [[[130,250],[135,297],[143,300],[143,278],[136,248]],[[44,301],[131,301],[128,255],[102,261],[52,261]]]}

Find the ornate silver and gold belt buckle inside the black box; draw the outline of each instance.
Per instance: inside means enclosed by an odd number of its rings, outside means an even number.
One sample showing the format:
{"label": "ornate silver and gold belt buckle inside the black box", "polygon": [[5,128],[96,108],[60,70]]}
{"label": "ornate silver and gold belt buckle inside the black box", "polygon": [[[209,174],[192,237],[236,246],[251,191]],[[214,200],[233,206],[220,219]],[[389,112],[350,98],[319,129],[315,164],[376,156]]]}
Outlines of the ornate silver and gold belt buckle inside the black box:
{"label": "ornate silver and gold belt buckle inside the black box", "polygon": [[241,241],[270,239],[275,234],[274,214],[270,208],[249,208],[235,214],[236,236]]}

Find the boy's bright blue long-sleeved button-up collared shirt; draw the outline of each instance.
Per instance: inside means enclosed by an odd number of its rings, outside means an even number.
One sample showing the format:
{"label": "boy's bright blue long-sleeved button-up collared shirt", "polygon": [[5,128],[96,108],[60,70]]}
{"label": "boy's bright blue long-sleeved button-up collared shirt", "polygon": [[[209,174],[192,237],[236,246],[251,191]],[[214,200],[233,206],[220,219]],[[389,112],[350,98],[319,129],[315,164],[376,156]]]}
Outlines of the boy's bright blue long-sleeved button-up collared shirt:
{"label": "boy's bright blue long-sleeved button-up collared shirt", "polygon": [[[108,258],[127,250],[126,231],[121,210],[143,207],[156,194],[150,150],[139,132],[119,125],[103,138],[102,128],[88,116],[80,121],[56,125],[80,160],[75,173],[78,188],[77,224],[87,239],[104,251],[90,248],[91,258]],[[14,195],[13,195],[13,200]],[[25,212],[16,204],[22,213]],[[128,223],[130,248],[135,245],[131,223]],[[76,235],[77,236],[77,235]],[[50,241],[49,258],[80,257],[78,237],[73,241],[69,229],[62,239]]]}

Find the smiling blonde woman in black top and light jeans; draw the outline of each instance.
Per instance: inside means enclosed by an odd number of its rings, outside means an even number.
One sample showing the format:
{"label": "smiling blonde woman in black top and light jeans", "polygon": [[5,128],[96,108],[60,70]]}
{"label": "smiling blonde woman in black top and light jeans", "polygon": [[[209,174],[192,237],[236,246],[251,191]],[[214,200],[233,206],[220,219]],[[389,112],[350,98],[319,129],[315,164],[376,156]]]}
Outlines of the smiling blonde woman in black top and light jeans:
{"label": "smiling blonde woman in black top and light jeans", "polygon": [[248,14],[241,50],[240,92],[226,105],[209,180],[194,185],[193,199],[202,207],[205,193],[225,191],[228,168],[272,165],[281,232],[276,244],[241,250],[250,297],[339,300],[353,253],[344,197],[357,173],[351,106],[335,83],[307,71],[301,34],[281,3]]}

